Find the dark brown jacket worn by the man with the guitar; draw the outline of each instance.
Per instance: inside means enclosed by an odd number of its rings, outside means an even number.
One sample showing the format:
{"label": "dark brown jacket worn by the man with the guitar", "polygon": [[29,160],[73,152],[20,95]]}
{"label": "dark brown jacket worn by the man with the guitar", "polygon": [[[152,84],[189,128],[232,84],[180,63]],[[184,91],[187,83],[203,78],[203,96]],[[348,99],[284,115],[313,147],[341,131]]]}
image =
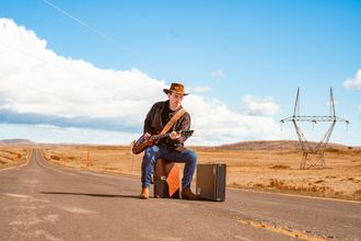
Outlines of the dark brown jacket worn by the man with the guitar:
{"label": "dark brown jacket worn by the man with the guitar", "polygon": [[[162,112],[164,106],[168,105],[170,101],[156,102],[152,108],[148,112],[145,120],[144,120],[144,133],[149,133],[151,135],[155,135],[162,131],[163,127],[166,123],[162,123]],[[180,110],[180,107],[178,108]],[[168,133],[175,130],[189,130],[190,128],[190,115],[189,113],[183,114],[176,123],[172,126]],[[185,150],[184,142],[186,141],[186,137],[180,137],[179,139],[173,140],[167,138],[166,145],[168,148],[183,151]]]}

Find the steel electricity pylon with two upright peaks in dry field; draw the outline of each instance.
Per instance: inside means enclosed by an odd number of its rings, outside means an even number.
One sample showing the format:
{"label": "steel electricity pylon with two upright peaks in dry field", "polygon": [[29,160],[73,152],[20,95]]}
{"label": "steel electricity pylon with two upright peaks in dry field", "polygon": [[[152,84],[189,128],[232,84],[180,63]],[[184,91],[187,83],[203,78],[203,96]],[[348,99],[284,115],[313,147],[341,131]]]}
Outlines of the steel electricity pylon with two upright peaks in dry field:
{"label": "steel electricity pylon with two upright peaks in dry field", "polygon": [[[300,169],[310,168],[325,168],[325,149],[327,148],[328,140],[333,134],[335,125],[337,122],[345,122],[347,125],[350,123],[347,119],[336,116],[335,101],[333,94],[333,88],[329,89],[329,115],[300,115],[300,88],[298,89],[298,94],[294,103],[293,116],[281,119],[281,123],[292,122],[298,134],[301,147],[302,147],[302,161]],[[319,122],[331,123],[323,138],[316,145],[311,145],[299,127],[299,122],[311,122],[317,124]]]}

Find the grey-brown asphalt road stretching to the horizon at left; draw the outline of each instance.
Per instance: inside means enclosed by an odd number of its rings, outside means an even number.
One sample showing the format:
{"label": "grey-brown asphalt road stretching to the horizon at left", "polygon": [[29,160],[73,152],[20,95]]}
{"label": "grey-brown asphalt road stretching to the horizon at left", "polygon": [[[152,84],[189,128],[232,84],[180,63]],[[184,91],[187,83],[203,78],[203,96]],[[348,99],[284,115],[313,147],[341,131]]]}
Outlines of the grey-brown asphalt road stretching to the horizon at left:
{"label": "grey-brown asphalt road stretching to the horizon at left", "polygon": [[[34,150],[0,171],[0,240],[361,240],[361,204],[226,190],[223,203],[139,199],[140,181]],[[291,236],[299,233],[299,238]]]}

